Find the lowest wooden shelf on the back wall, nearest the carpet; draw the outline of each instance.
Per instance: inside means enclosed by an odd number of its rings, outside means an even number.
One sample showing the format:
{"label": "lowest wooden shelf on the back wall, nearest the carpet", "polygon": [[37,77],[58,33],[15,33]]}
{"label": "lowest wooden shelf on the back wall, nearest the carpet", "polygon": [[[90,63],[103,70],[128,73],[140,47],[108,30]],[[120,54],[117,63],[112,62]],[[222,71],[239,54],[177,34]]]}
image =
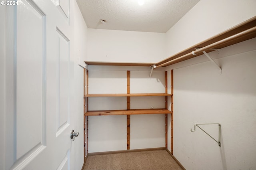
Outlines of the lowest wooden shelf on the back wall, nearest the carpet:
{"label": "lowest wooden shelf on the back wall, nearest the carpet", "polygon": [[146,115],[146,114],[168,114],[172,113],[168,109],[131,109],[131,110],[114,110],[114,111],[88,111],[85,116],[100,115]]}

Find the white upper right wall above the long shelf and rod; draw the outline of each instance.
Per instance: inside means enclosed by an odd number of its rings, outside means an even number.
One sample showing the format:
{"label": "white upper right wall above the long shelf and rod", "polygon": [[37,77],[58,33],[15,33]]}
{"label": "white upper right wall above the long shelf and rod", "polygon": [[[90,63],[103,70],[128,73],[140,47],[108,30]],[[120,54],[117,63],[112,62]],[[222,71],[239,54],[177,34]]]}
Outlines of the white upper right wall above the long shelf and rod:
{"label": "white upper right wall above the long shelf and rod", "polygon": [[200,0],[166,32],[166,57],[256,16],[255,0]]}

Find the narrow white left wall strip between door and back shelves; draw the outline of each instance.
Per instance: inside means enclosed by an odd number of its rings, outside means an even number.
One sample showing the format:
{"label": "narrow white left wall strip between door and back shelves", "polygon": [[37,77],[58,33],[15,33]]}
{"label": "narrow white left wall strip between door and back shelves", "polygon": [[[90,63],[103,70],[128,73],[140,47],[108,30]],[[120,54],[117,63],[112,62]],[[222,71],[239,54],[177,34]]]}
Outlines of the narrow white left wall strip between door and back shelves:
{"label": "narrow white left wall strip between door and back shelves", "polygon": [[[72,3],[73,4],[73,3]],[[82,14],[78,8],[76,1],[74,1],[74,81],[75,87],[74,91],[76,97],[73,99],[78,108],[79,117],[75,117],[76,122],[75,131],[79,132],[79,137],[76,138],[74,142],[75,144],[75,167],[74,169],[81,169],[84,163],[84,68],[80,67],[80,65],[84,65],[84,60],[86,59],[87,53],[87,26],[84,22]]]}

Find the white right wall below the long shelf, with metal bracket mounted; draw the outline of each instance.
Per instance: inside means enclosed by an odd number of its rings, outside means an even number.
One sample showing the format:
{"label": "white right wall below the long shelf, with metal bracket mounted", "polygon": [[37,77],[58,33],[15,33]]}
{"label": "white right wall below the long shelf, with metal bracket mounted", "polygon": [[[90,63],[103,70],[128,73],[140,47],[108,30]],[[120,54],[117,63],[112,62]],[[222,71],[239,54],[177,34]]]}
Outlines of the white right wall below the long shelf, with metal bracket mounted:
{"label": "white right wall below the long shelf, with metal bracket mounted", "polygon": [[[186,169],[256,168],[255,44],[221,49],[222,74],[210,61],[174,69],[174,156]],[[199,128],[190,132],[195,123],[220,123],[221,147]],[[204,128],[218,140],[217,127]]]}

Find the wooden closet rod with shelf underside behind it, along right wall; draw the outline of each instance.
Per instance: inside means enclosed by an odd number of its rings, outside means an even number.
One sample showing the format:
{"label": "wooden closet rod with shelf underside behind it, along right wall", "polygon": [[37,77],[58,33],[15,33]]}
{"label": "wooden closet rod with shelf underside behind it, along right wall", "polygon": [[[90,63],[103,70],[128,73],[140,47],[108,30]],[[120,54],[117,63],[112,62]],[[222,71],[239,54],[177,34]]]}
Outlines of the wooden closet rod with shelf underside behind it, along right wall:
{"label": "wooden closet rod with shelf underside behind it, along right wall", "polygon": [[[220,40],[220,41],[218,41],[218,42],[212,43],[212,44],[210,44],[210,45],[206,45],[205,47],[198,48],[198,49],[195,50],[195,51],[192,51],[192,52],[190,52],[190,53],[187,53],[187,54],[185,54],[185,55],[182,55],[182,56],[180,56],[180,57],[178,57],[178,58],[175,58],[175,59],[172,59],[172,60],[170,60],[170,61],[167,61],[166,63],[162,63],[162,64],[160,64],[160,65],[156,65],[156,68],[162,67],[162,66],[166,66],[166,65],[171,65],[171,64],[173,64],[176,60],[182,60],[182,61],[184,61],[184,60],[186,60],[187,57],[190,57],[191,55],[197,55],[197,54],[202,53],[203,51],[206,51],[206,50],[208,50],[208,49],[217,48],[218,45],[223,45],[223,44],[225,44],[225,43],[229,43],[229,42],[231,42],[231,41],[233,41],[233,40],[236,40],[236,39],[239,39],[239,38],[243,38],[243,37],[249,36],[249,35],[251,35],[251,34],[256,34],[256,26],[254,26],[254,27],[252,27],[252,28],[249,28],[248,30],[242,31],[242,32],[240,32],[240,33],[238,33],[238,34],[235,34],[235,35],[233,35],[233,36],[230,36],[230,37],[228,37],[228,38],[224,38],[223,40]],[[176,62],[175,62],[175,63],[176,63]]]}

